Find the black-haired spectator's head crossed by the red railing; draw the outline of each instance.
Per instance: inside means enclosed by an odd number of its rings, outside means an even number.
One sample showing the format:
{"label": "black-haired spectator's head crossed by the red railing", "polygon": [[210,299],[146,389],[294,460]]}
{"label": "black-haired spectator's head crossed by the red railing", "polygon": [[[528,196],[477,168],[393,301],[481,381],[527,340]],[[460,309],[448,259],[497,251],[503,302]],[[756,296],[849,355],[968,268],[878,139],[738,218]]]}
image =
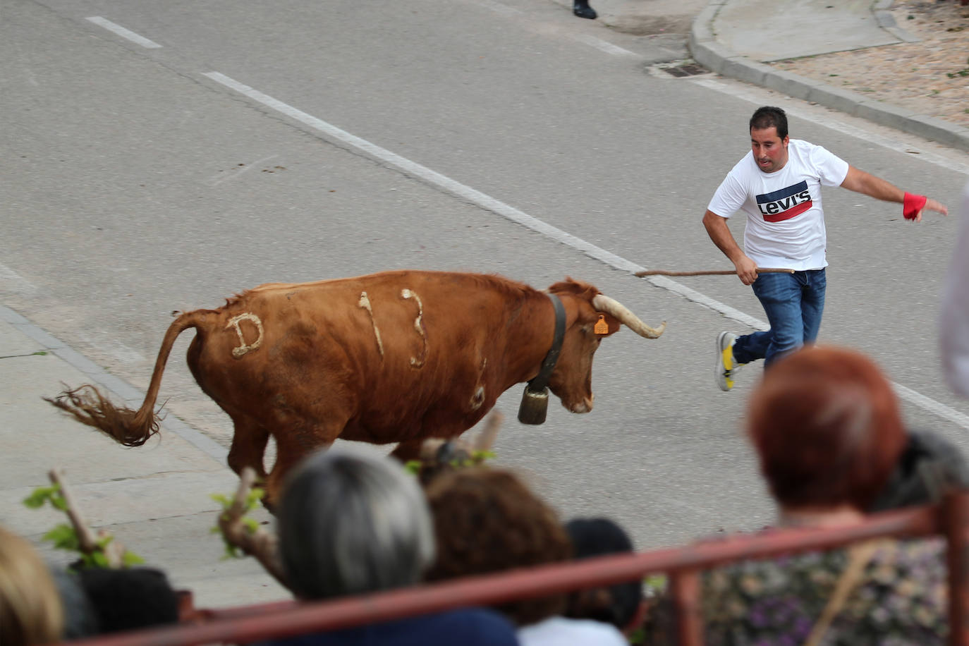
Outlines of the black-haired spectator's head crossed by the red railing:
{"label": "black-haired spectator's head crossed by the red railing", "polygon": [[[632,552],[633,542],[608,518],[575,518],[565,524],[576,559]],[[639,579],[609,588],[577,590],[569,596],[566,617],[593,619],[625,631],[637,616],[642,600]]]}

